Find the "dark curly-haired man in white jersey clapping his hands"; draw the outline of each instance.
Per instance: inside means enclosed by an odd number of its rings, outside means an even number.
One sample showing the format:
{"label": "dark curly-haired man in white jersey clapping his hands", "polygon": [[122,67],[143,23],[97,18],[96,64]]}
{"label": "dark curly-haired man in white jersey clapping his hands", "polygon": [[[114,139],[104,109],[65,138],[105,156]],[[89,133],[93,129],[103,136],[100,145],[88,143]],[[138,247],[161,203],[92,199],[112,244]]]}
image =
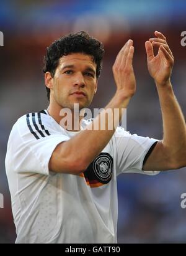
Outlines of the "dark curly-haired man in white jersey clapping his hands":
{"label": "dark curly-haired man in white jersey clapping his hands", "polygon": [[[161,104],[162,141],[113,128],[95,130],[93,121],[79,121],[83,129],[61,125],[60,111],[75,115],[88,107],[97,90],[104,49],[86,32],[69,34],[47,49],[45,85],[48,110],[22,116],[12,128],[6,154],[6,173],[12,197],[17,243],[117,242],[117,176],[156,174],[186,166],[185,120],[175,99],[170,75],[174,58],[166,37],[155,32],[145,43],[148,69]],[[153,47],[159,47],[154,57]],[[135,94],[133,41],[117,55],[113,75],[115,95],[105,110],[120,110],[117,123]],[[63,117],[64,118],[64,117]]]}

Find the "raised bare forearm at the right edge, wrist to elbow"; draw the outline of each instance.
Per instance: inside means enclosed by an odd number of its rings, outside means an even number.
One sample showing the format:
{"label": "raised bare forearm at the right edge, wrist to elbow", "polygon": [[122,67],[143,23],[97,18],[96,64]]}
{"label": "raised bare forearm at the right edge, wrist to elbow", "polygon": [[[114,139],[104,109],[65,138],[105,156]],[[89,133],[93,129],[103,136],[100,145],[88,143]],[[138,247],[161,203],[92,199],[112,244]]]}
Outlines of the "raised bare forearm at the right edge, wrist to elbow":
{"label": "raised bare forearm at the right edge, wrist to elbow", "polygon": [[[162,111],[163,140],[162,143],[170,157],[184,165],[186,159],[186,126],[182,110],[175,98],[172,85],[156,83]],[[185,163],[186,164],[186,163]]]}

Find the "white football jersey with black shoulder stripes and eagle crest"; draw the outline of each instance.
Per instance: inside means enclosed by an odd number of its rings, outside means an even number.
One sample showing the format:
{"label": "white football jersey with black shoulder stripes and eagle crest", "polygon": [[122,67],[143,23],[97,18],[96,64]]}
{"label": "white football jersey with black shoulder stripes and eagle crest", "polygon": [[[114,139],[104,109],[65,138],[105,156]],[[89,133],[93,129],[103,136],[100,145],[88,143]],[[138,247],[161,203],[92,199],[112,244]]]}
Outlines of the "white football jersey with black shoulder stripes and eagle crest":
{"label": "white football jersey with black shoulder stripes and eagle crest", "polygon": [[117,128],[84,173],[53,173],[48,169],[51,154],[77,133],[64,130],[47,110],[24,115],[13,126],[6,173],[16,243],[116,243],[118,174],[158,173],[142,170],[144,157],[157,140],[123,128]]}

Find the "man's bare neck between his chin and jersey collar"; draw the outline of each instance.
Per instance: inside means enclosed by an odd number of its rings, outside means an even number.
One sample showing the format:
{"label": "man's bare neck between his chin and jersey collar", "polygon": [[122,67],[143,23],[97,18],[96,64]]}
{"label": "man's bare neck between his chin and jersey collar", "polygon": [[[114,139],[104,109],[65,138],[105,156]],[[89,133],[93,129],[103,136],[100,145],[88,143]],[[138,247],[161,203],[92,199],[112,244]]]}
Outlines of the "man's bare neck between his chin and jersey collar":
{"label": "man's bare neck between his chin and jersey collar", "polygon": [[59,105],[53,107],[51,104],[48,106],[47,111],[49,115],[59,124],[64,130],[67,131],[80,131],[81,121],[84,115],[80,115],[80,112],[74,112],[74,110],[69,110],[67,113],[64,108]]}

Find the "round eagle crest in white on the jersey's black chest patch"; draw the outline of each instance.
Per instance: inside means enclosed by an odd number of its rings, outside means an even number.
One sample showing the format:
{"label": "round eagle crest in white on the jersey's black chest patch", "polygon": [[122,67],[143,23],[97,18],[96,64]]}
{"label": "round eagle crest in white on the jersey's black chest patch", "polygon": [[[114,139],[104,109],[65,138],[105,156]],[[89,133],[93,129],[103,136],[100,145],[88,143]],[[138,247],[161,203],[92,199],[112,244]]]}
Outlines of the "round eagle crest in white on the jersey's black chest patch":
{"label": "round eagle crest in white on the jersey's black chest patch", "polygon": [[95,176],[101,183],[107,184],[112,178],[113,159],[108,153],[100,153],[93,162]]}

